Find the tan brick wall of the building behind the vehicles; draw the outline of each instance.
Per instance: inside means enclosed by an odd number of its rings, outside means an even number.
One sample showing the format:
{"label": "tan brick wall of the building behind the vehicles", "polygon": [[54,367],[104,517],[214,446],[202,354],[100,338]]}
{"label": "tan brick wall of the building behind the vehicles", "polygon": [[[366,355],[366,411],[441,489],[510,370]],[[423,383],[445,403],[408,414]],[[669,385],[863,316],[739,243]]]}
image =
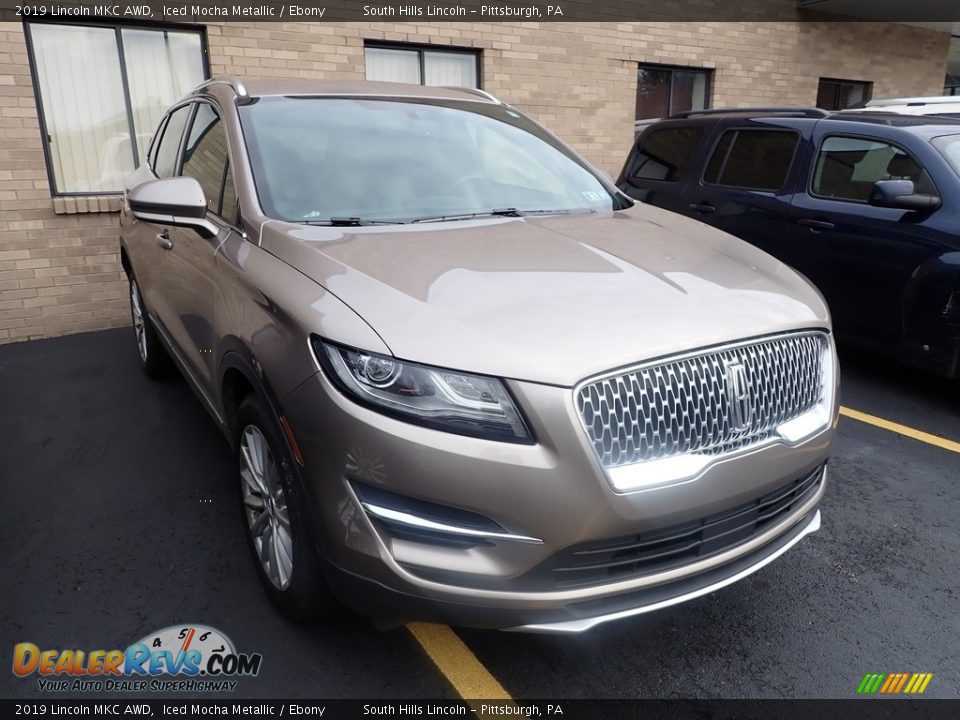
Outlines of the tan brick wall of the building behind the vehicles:
{"label": "tan brick wall of the building behind the vehicles", "polygon": [[[938,94],[948,35],[884,23],[227,23],[213,74],[362,78],[364,40],[483,50],[483,86],[616,174],[638,62],[715,69],[715,106],[813,105],[820,77]],[[0,343],[123,325],[117,217],[51,199],[22,27],[0,23]],[[54,211],[56,204],[57,212]],[[95,208],[115,207],[99,201]]]}

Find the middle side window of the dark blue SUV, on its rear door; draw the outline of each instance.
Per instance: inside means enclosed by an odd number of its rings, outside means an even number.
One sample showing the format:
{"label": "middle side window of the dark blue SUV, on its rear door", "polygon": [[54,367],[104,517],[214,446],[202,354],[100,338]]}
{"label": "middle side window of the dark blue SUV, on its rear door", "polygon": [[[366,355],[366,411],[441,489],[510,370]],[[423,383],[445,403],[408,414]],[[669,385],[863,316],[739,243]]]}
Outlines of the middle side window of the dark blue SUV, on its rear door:
{"label": "middle side window of the dark blue SUV, on its rear door", "polygon": [[799,134],[790,130],[727,130],[703,181],[748,190],[779,190],[787,182]]}

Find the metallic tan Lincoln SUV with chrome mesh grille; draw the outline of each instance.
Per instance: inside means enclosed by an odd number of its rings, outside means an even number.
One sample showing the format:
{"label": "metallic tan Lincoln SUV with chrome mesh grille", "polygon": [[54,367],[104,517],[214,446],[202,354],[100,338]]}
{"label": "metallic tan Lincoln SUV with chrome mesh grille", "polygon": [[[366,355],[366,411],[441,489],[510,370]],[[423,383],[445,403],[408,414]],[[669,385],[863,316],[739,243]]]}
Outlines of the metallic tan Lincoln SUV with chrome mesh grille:
{"label": "metallic tan Lincoln SUV with chrome mesh grille", "polygon": [[212,80],[120,236],[143,367],[230,439],[291,616],[577,632],[819,527],[817,292],[482,91]]}

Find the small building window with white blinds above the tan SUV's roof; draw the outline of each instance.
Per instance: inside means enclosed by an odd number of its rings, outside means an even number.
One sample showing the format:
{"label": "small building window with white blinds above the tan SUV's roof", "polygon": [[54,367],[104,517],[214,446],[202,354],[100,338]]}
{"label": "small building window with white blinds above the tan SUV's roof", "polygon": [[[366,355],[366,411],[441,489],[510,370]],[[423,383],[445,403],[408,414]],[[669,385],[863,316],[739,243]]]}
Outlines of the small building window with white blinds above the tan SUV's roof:
{"label": "small building window with white blinds above the tan SUV's roof", "polygon": [[367,45],[367,80],[480,87],[480,53],[419,46]]}

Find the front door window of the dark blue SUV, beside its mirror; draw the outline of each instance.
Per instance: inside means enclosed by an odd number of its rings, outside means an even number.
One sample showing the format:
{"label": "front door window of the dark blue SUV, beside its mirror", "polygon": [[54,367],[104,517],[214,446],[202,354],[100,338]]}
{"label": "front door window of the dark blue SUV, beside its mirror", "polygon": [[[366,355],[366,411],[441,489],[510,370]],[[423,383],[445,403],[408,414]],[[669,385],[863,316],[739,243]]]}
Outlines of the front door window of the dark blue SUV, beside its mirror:
{"label": "front door window of the dark blue SUV, beside its mirror", "polygon": [[917,192],[932,192],[923,168],[903,150],[882,140],[828,137],[817,153],[814,195],[867,202],[877,180],[912,180]]}

